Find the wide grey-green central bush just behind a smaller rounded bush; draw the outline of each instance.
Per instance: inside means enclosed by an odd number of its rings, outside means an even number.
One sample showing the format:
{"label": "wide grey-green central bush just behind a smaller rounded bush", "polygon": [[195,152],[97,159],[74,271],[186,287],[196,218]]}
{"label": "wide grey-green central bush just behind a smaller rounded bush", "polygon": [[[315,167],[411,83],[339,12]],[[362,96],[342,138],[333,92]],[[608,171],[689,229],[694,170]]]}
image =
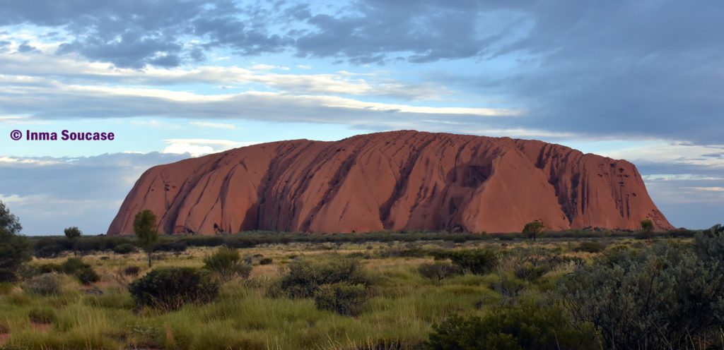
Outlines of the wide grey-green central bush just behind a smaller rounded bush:
{"label": "wide grey-green central bush just behind a smaller rounded bush", "polygon": [[320,286],[340,282],[369,285],[358,260],[338,259],[326,264],[294,261],[289,264],[289,273],[282,277],[280,287],[291,298],[309,298]]}

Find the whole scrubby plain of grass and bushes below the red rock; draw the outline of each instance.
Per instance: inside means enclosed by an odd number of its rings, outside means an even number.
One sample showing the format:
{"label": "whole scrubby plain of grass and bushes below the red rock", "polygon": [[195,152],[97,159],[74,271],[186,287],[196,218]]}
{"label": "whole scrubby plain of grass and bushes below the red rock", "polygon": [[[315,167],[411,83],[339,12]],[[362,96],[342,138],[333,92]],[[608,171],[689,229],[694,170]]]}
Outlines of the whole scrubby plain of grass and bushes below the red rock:
{"label": "whole scrubby plain of grass and bushes below the red rock", "polygon": [[721,226],[161,236],[151,268],[133,237],[13,237],[5,350],[724,349]]}

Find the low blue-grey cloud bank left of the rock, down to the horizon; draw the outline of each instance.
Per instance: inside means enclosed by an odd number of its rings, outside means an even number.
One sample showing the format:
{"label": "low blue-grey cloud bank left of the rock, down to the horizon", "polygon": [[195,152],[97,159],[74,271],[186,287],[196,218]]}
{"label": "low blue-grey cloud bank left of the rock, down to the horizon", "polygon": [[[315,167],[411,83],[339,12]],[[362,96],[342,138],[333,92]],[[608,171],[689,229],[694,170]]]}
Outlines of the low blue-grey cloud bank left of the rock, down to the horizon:
{"label": "low blue-grey cloud bank left of the rock, down to the horizon", "polygon": [[0,200],[20,217],[24,234],[61,234],[69,226],[101,234],[143,171],[182,158],[161,153],[3,157]]}

